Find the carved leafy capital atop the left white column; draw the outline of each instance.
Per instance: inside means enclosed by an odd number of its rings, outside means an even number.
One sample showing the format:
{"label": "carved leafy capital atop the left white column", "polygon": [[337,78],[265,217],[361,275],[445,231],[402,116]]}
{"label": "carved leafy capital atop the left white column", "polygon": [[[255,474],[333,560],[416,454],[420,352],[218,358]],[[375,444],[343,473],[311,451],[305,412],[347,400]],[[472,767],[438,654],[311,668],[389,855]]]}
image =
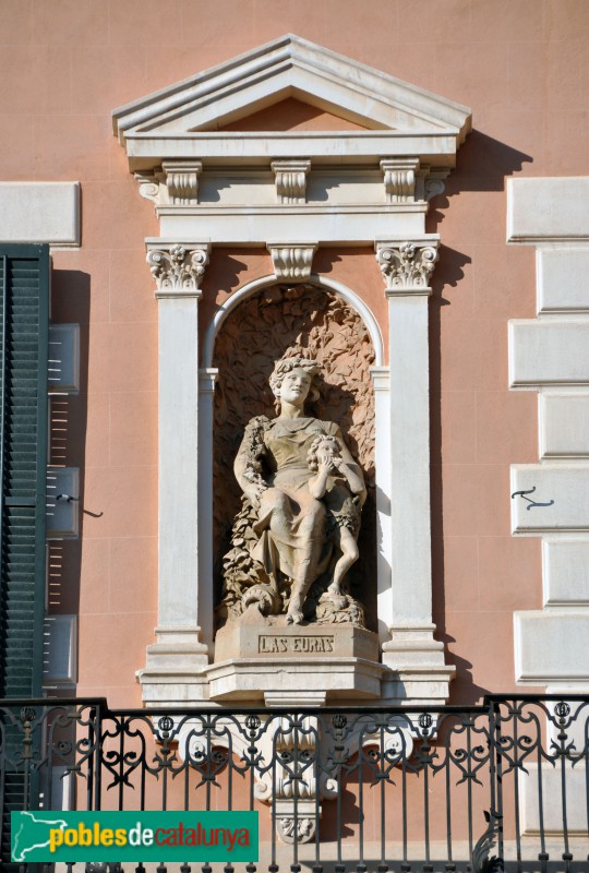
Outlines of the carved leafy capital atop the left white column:
{"label": "carved leafy capital atop the left white column", "polygon": [[200,297],[208,250],[208,243],[149,249],[147,263],[156,283],[156,297]]}

